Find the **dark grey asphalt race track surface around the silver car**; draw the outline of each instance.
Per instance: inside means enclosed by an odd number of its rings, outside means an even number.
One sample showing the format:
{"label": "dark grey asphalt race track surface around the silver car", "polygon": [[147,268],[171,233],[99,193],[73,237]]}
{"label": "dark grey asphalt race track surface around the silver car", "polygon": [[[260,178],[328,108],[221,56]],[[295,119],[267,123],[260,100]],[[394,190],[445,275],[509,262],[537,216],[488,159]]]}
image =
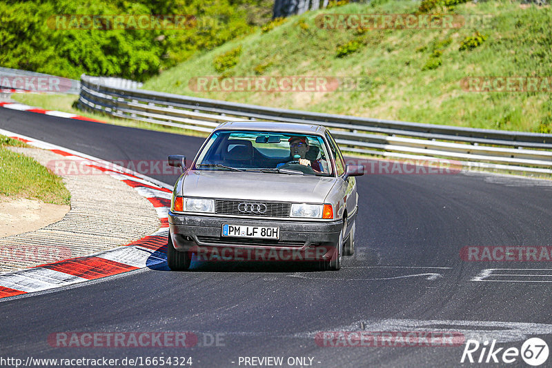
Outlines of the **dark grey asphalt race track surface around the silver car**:
{"label": "dark grey asphalt race track surface around the silver car", "polygon": [[[0,108],[0,128],[108,161],[164,160],[168,154],[193,159],[203,142],[5,108]],[[176,179],[151,176],[170,185]],[[313,358],[313,367],[461,365],[464,344],[323,347],[315,341],[320,331],[413,331],[420,326],[459,331],[480,342],[495,339],[497,347],[520,349],[529,337],[551,345],[551,263],[468,262],[460,258],[460,249],[551,246],[552,183],[487,174],[365,175],[357,180],[357,254],[346,258],[339,272],[194,262],[190,272],[143,269],[3,300],[1,356],[178,356],[191,357],[192,367],[244,367],[243,358],[254,356],[282,356],[284,363],[288,357]],[[493,276],[498,274],[504,276]],[[199,343],[174,348],[53,347],[48,342],[50,334],[67,331],[191,331]],[[481,366],[528,367],[520,357],[509,365]],[[544,366],[552,366],[552,357]]]}

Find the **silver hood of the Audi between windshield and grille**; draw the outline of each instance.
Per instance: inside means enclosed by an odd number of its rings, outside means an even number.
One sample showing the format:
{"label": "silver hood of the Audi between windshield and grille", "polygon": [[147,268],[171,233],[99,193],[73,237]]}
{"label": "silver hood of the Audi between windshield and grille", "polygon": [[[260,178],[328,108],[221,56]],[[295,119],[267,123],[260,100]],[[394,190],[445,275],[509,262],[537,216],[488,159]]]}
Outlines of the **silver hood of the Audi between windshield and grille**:
{"label": "silver hood of the Audi between windshield and grille", "polygon": [[184,196],[323,203],[337,178],[314,175],[194,170],[184,175]]}

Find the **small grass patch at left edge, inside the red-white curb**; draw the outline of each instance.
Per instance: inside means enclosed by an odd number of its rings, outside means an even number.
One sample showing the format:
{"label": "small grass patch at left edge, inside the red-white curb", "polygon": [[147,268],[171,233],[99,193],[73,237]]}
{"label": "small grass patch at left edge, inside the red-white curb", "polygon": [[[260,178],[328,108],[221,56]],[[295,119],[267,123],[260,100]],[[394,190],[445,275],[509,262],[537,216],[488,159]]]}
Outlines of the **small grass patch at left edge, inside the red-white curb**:
{"label": "small grass patch at left edge, inside the red-white curb", "polygon": [[59,176],[34,159],[10,151],[6,146],[25,147],[25,143],[0,136],[0,195],[38,199],[44,203],[69,205],[71,194]]}

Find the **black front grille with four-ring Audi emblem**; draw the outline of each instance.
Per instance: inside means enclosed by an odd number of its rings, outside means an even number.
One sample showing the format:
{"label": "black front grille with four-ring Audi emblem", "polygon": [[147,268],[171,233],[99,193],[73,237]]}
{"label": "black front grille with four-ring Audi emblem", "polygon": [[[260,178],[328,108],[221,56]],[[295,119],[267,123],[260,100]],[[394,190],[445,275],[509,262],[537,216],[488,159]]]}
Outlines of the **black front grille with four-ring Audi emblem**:
{"label": "black front grille with four-ring Audi emblem", "polygon": [[215,199],[215,214],[237,216],[289,217],[290,203]]}

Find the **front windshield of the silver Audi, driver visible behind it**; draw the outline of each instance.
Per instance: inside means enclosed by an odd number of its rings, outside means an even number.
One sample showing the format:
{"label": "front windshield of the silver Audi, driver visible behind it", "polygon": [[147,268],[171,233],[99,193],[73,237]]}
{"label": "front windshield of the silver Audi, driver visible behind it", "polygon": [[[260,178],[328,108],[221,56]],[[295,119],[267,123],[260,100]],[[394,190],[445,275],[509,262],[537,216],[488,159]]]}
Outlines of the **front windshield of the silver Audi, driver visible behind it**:
{"label": "front windshield of the silver Audi, driver visible behind it", "polygon": [[215,132],[194,169],[333,176],[322,136],[279,132]]}

